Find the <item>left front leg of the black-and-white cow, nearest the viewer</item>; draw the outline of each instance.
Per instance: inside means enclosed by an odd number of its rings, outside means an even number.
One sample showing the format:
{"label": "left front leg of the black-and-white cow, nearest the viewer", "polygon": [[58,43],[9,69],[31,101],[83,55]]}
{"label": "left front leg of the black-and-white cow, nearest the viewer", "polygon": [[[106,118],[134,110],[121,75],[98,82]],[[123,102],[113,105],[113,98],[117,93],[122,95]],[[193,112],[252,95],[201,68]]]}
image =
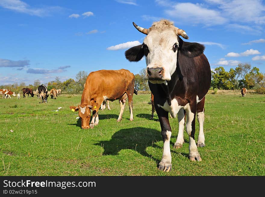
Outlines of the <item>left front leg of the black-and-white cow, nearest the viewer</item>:
{"label": "left front leg of the black-and-white cow, nearest the viewer", "polygon": [[168,112],[166,112],[162,108],[156,109],[160,126],[161,126],[161,134],[164,141],[163,146],[163,155],[161,162],[159,163],[159,170],[163,170],[169,172],[172,169],[171,164],[171,153],[170,153],[170,137],[171,137],[171,127],[168,120]]}

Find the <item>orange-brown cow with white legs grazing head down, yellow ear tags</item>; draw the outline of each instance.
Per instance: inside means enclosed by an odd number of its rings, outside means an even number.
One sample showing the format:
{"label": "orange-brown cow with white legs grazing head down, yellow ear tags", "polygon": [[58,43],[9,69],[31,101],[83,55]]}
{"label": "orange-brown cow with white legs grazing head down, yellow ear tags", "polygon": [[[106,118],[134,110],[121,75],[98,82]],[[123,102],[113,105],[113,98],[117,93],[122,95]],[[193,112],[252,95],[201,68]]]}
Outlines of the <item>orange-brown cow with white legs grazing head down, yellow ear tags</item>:
{"label": "orange-brown cow with white legs grazing head down, yellow ear tags", "polygon": [[[70,106],[72,111],[79,111],[82,129],[94,128],[98,125],[98,110],[104,100],[118,100],[127,94],[130,109],[130,121],[133,121],[133,91],[135,77],[126,69],[98,70],[90,72],[86,78],[86,85],[81,97],[81,104]],[[120,105],[117,122],[122,120],[125,104]],[[92,120],[90,116],[92,110]],[[89,125],[90,122],[90,125]]]}

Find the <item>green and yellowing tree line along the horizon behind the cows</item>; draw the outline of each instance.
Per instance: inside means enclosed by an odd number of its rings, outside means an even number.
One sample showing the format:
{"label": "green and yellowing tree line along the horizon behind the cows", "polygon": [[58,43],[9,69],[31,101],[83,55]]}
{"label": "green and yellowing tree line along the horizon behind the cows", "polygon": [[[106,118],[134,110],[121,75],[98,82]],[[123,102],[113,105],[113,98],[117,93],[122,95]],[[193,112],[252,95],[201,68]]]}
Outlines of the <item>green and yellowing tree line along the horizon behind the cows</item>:
{"label": "green and yellowing tree line along the horizon behind the cows", "polygon": [[[259,72],[257,67],[251,68],[251,65],[248,63],[240,63],[235,69],[231,68],[229,71],[225,71],[224,67],[220,66],[212,70],[211,74],[211,90],[238,90],[245,87],[247,89],[254,89],[258,94],[265,94],[265,74]],[[55,77],[55,80],[44,85],[47,86],[48,90],[52,88],[61,89],[64,94],[82,94],[87,76],[88,73],[86,71],[79,71],[75,79],[69,78],[61,82],[59,77]],[[0,85],[0,89],[22,92],[22,88],[36,90],[39,85],[41,85],[40,81],[35,80],[33,85],[26,85],[24,82],[21,82],[20,84]],[[145,78],[145,68],[135,75],[135,88],[143,92],[150,91],[148,81]]]}

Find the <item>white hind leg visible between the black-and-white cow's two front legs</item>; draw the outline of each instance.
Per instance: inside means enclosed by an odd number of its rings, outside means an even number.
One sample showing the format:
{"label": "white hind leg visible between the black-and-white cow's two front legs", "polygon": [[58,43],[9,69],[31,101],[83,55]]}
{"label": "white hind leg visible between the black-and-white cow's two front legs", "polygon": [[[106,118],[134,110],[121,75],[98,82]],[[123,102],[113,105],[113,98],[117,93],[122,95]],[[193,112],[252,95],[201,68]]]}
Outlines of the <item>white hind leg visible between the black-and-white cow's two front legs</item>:
{"label": "white hind leg visible between the black-and-white cow's two front legs", "polygon": [[178,121],[179,121],[179,133],[177,140],[173,146],[173,148],[181,148],[184,143],[184,125],[185,125],[185,110],[183,108],[179,109],[178,112]]}

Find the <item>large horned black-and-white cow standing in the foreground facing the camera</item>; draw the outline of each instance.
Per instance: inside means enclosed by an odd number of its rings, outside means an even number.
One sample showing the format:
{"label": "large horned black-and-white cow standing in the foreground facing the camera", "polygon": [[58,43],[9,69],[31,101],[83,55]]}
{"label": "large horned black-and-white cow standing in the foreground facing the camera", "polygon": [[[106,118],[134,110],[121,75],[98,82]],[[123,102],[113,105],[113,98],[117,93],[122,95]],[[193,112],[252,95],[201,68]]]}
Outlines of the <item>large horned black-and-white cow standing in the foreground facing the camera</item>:
{"label": "large horned black-and-white cow standing in the foreground facing the camera", "polygon": [[[197,146],[204,145],[204,100],[211,83],[210,65],[203,54],[204,45],[184,42],[179,35],[189,39],[186,32],[168,20],[154,22],[149,29],[133,25],[147,36],[143,44],[125,52],[129,61],[139,61],[145,55],[146,78],[154,94],[154,105],[164,141],[159,170],[170,171],[171,127],[168,112],[178,115],[179,134],[174,148],[184,142],[183,130],[186,113],[186,131],[189,135],[189,159],[201,161]],[[195,115],[200,125],[198,142],[195,142]]]}

